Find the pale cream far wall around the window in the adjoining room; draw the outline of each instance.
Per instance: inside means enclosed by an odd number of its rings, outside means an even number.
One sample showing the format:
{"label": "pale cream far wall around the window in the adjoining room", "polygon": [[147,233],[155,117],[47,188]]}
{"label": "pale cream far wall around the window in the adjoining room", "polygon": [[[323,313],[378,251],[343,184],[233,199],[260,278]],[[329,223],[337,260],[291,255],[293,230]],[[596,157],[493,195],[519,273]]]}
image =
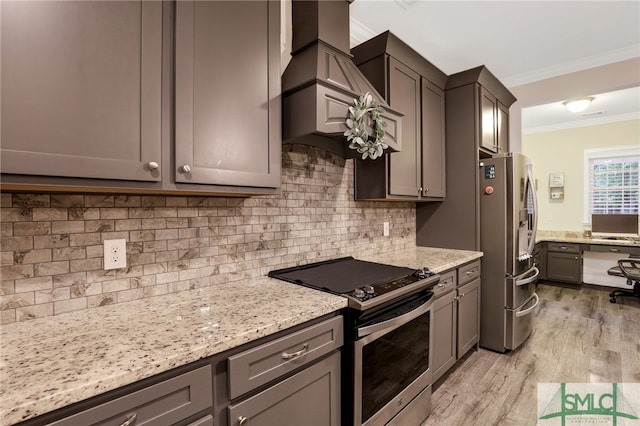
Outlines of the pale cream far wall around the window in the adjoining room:
{"label": "pale cream far wall around the window in the adjoining room", "polygon": [[[584,150],[640,144],[640,120],[522,136],[522,153],[532,158],[538,179],[538,228],[583,231]],[[564,199],[550,199],[549,173],[562,172]]]}

